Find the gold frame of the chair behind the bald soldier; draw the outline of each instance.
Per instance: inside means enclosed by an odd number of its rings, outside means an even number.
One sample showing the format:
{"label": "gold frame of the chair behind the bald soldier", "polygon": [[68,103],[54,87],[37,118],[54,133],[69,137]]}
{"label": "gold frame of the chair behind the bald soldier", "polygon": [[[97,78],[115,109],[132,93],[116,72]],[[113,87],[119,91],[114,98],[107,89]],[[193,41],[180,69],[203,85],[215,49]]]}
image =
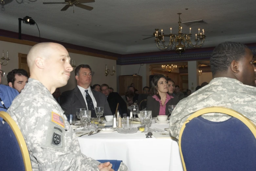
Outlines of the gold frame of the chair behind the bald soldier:
{"label": "gold frame of the chair behind the bald soldier", "polygon": [[12,129],[12,131],[18,141],[18,144],[19,144],[20,150],[21,150],[21,154],[22,154],[22,158],[23,158],[23,162],[24,162],[24,166],[25,166],[25,170],[32,171],[29,150],[28,150],[27,144],[25,142],[25,139],[24,139],[18,125],[10,117],[10,115],[4,111],[0,111],[0,117],[3,118],[5,120],[5,122],[7,122],[9,124],[10,128]]}

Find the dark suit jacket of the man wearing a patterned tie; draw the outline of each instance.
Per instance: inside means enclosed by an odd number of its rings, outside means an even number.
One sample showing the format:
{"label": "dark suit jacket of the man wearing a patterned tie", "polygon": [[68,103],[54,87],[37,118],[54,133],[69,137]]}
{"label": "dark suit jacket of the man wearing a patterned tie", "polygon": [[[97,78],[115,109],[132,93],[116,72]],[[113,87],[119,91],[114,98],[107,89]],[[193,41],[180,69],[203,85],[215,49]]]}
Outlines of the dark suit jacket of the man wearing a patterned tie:
{"label": "dark suit jacket of the man wearing a patterned tie", "polygon": [[[106,96],[101,92],[97,92],[92,89],[91,91],[97,102],[97,107],[104,107],[103,116],[112,115]],[[69,90],[61,94],[60,106],[64,111],[64,114],[76,114],[76,109],[78,108],[85,108],[87,110],[84,97],[77,86],[73,90]],[[97,116],[91,115],[91,117]]]}

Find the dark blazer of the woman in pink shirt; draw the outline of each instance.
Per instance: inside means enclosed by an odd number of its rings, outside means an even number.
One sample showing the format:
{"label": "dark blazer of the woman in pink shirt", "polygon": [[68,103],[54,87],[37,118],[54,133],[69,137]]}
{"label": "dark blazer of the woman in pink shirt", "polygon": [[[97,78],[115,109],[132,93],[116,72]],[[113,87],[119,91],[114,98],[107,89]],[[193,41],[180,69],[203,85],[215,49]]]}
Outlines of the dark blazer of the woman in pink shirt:
{"label": "dark blazer of the woman in pink shirt", "polygon": [[[177,96],[173,96],[174,98],[171,98],[167,103],[166,103],[166,108],[165,108],[165,114],[169,114],[169,109],[168,105],[177,105],[179,102],[179,98]],[[159,101],[156,101],[152,97],[152,95],[149,95],[147,98],[147,111],[152,111],[152,117],[156,117],[159,115],[160,111],[160,103]]]}

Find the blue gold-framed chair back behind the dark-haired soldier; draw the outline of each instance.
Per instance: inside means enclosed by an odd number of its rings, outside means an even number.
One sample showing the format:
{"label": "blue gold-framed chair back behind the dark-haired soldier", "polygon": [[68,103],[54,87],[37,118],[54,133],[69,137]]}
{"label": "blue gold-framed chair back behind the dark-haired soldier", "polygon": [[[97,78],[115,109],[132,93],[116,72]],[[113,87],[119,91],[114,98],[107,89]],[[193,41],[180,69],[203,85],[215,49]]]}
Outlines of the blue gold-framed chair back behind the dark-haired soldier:
{"label": "blue gold-framed chair back behind the dark-haired soldier", "polygon": [[[212,122],[201,116],[206,113],[231,118]],[[193,113],[181,128],[179,148],[184,171],[256,170],[256,127],[231,109],[210,107]]]}

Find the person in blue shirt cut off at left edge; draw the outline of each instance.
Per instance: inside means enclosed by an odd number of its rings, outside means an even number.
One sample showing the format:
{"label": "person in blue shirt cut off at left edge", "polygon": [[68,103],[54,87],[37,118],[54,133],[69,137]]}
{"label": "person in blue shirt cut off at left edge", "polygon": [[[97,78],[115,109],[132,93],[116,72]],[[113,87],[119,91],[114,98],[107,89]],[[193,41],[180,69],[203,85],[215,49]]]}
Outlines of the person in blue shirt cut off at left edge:
{"label": "person in blue shirt cut off at left edge", "polygon": [[[5,76],[5,72],[1,70],[0,63],[0,111],[7,111],[11,105],[12,100],[19,94],[19,92],[9,86],[1,84],[2,77]],[[0,121],[3,119],[0,118]]]}

